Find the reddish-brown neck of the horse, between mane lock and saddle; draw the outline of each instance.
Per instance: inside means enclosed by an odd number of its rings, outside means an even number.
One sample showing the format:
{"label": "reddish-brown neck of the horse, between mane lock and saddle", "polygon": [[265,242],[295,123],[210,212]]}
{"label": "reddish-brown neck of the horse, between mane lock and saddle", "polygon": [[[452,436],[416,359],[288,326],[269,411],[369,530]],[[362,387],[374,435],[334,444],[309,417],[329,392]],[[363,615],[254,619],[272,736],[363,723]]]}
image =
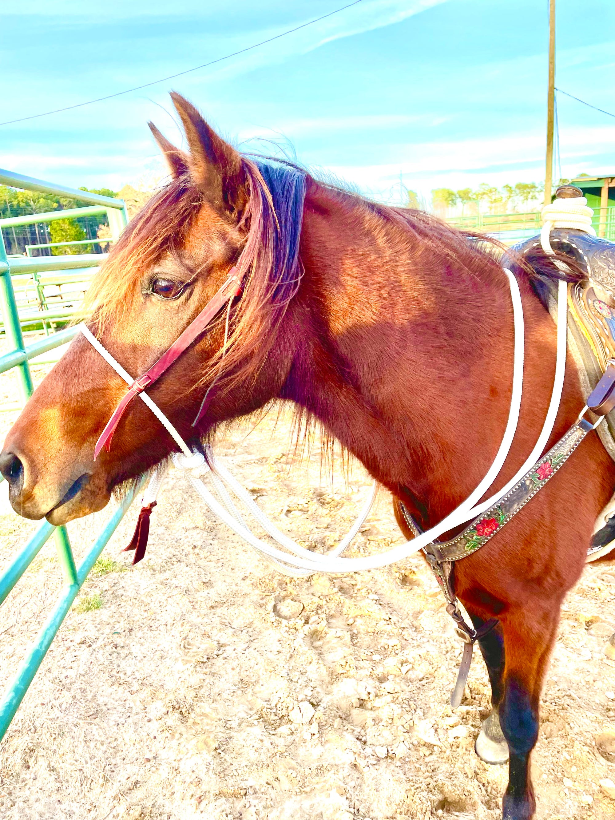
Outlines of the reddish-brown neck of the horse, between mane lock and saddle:
{"label": "reddish-brown neck of the horse, between mane lock and saddle", "polygon": [[[354,198],[308,188],[305,275],[285,320],[297,341],[280,395],[394,494],[425,500],[434,518],[481,481],[502,440],[513,328],[499,265],[424,221],[403,230]],[[553,322],[522,291],[534,404],[522,409],[500,485],[535,443],[553,383]],[[567,394],[572,406],[574,385]]]}

